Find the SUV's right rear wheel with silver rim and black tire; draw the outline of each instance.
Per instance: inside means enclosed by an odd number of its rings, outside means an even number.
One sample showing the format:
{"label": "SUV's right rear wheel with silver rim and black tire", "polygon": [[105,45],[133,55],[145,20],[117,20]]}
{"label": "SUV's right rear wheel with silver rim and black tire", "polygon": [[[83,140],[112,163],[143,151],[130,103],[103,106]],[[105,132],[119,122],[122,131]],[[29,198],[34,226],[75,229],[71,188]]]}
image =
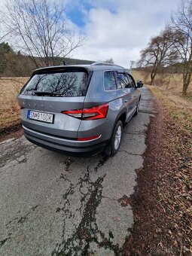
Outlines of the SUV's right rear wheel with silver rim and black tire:
{"label": "SUV's right rear wheel with silver rim and black tire", "polygon": [[123,123],[121,122],[121,120],[118,120],[114,126],[114,131],[111,136],[111,142],[110,142],[110,145],[108,145],[108,148],[105,150],[105,154],[111,155],[111,156],[114,156],[115,154],[117,154],[117,151],[120,148],[122,132],[123,132]]}

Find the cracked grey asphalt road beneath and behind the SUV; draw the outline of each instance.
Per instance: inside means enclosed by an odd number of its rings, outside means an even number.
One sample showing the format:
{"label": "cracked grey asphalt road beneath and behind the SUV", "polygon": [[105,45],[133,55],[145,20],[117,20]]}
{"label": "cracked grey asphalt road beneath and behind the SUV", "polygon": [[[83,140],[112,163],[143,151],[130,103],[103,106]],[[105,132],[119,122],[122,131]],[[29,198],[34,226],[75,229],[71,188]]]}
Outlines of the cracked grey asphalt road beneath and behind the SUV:
{"label": "cracked grey asphalt road beneath and behind the SUV", "polygon": [[0,255],[121,254],[155,114],[150,91],[141,91],[139,114],[114,157],[68,157],[24,136],[0,143]]}

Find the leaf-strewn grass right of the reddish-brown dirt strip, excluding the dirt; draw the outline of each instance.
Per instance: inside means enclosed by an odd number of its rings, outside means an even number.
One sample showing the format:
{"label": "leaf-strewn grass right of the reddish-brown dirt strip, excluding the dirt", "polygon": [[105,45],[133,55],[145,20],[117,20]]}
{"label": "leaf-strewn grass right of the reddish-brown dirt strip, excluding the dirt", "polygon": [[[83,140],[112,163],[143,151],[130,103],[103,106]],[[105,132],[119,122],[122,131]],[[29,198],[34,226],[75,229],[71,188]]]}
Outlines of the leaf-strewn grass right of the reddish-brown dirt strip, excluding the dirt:
{"label": "leaf-strewn grass right of the reddish-brown dirt strip, excluding the dirt", "polygon": [[[167,166],[157,185],[158,203],[168,221],[173,254],[192,254],[192,105],[189,99],[150,87],[163,108]],[[166,157],[166,156],[165,156]]]}

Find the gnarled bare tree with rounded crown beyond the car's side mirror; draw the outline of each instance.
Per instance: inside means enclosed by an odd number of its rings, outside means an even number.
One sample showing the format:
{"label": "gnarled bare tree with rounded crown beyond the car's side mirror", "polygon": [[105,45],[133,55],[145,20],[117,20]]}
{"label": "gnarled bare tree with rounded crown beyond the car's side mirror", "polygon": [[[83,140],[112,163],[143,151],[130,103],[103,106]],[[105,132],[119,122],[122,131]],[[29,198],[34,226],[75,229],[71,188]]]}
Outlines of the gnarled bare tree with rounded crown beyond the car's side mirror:
{"label": "gnarled bare tree with rounded crown beyond the car's side mirror", "polygon": [[160,73],[163,66],[168,66],[177,59],[176,50],[173,47],[172,32],[165,29],[160,35],[151,38],[148,47],[141,51],[139,66],[151,67],[151,85],[154,78]]}

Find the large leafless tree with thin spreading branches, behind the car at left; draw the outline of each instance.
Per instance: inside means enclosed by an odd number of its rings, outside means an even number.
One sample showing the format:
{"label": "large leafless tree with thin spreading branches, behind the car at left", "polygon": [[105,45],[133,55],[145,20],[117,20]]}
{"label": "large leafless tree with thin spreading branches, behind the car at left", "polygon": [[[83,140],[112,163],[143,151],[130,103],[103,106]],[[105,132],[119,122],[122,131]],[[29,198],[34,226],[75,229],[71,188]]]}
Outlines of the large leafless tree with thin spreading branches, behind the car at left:
{"label": "large leafless tree with thin spreading branches, behind the car at left", "polygon": [[[9,0],[4,12],[6,31],[35,66],[54,66],[81,46],[62,0]],[[60,60],[59,60],[60,62]]]}

